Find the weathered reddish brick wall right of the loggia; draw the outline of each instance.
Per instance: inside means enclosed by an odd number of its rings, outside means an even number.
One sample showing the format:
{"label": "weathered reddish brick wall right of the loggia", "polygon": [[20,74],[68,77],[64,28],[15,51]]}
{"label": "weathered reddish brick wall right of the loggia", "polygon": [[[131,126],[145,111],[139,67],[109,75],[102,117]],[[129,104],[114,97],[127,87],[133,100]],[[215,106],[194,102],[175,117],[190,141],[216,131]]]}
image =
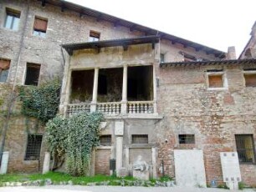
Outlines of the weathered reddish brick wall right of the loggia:
{"label": "weathered reddish brick wall right of the loggia", "polygon": [[[243,66],[224,66],[227,90],[207,90],[207,67],[159,68],[158,109],[164,119],[156,137],[160,144],[159,160],[164,156],[166,172],[174,176],[173,149],[178,134],[195,134],[195,148],[202,149],[207,182],[223,180],[219,152],[235,151],[234,134],[253,134],[256,138],[256,89],[244,86]],[[164,139],[168,143],[164,144]],[[187,146],[191,149],[192,146]],[[241,164],[243,182],[256,184],[256,166]]]}

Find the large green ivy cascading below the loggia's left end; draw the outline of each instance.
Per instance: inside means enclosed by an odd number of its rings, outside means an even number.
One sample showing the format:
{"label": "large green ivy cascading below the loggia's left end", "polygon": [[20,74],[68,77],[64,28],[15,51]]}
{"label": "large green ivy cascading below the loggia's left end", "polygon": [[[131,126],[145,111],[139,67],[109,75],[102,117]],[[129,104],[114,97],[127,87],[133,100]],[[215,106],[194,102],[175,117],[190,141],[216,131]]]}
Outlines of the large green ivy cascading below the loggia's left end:
{"label": "large green ivy cascading below the loggia's left end", "polygon": [[[103,115],[74,114],[69,118],[57,116],[46,124],[45,139],[57,160],[66,157],[69,174],[89,175],[93,147],[99,144],[99,126]],[[58,165],[58,163],[57,163]]]}

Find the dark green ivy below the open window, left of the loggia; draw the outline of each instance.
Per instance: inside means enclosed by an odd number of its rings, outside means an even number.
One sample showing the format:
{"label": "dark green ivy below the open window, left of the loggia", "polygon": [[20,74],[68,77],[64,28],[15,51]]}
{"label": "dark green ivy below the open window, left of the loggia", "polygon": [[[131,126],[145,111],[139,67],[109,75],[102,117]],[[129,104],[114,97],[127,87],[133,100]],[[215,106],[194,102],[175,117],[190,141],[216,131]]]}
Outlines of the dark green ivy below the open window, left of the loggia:
{"label": "dark green ivy below the open window, left of the loggia", "polygon": [[19,98],[22,101],[22,114],[46,124],[53,119],[59,109],[60,81],[54,79],[38,87],[21,87]]}

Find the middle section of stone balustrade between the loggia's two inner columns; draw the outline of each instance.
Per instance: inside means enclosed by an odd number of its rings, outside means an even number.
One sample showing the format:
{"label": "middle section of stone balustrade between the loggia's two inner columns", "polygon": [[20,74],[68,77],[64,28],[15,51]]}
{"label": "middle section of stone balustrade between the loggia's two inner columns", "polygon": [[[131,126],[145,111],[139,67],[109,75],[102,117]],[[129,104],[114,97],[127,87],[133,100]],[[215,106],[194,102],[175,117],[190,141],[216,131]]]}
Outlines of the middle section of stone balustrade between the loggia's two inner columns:
{"label": "middle section of stone balustrade between the loggia's two inner columns", "polygon": [[98,103],[97,111],[103,114],[115,115],[120,114],[121,104],[120,102],[110,102],[110,103]]}

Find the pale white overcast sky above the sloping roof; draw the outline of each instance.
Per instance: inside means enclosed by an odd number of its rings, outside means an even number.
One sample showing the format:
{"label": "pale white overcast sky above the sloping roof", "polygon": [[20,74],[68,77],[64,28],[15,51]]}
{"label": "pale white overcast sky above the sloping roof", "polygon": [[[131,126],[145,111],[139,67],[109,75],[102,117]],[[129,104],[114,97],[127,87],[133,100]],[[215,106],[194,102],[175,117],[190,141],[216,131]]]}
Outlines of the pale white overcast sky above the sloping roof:
{"label": "pale white overcast sky above the sloping roof", "polygon": [[256,0],[68,0],[237,57],[256,21]]}

